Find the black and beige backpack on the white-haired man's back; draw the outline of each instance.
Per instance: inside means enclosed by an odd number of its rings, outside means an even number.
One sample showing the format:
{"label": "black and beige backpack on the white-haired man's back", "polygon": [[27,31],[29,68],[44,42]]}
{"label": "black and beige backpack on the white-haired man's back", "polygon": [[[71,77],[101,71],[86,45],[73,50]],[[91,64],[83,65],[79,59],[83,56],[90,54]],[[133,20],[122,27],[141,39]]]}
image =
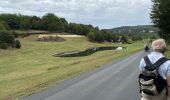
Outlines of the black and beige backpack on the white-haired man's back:
{"label": "black and beige backpack on the white-haired man's back", "polygon": [[144,61],[146,66],[144,67],[144,71],[139,74],[140,92],[154,96],[161,93],[167,85],[166,80],[158,73],[158,69],[168,59],[162,57],[156,63],[152,64],[148,56],[146,56],[144,57]]}

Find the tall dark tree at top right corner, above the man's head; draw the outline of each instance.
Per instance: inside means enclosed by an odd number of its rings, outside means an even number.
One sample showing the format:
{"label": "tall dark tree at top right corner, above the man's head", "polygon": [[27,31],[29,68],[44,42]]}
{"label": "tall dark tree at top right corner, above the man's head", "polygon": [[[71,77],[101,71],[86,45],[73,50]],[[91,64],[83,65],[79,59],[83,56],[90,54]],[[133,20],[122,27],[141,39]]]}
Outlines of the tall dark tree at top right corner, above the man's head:
{"label": "tall dark tree at top right corner, above the man's head", "polygon": [[170,42],[168,39],[170,37],[170,0],[152,0],[152,2],[151,19],[160,29],[160,36]]}

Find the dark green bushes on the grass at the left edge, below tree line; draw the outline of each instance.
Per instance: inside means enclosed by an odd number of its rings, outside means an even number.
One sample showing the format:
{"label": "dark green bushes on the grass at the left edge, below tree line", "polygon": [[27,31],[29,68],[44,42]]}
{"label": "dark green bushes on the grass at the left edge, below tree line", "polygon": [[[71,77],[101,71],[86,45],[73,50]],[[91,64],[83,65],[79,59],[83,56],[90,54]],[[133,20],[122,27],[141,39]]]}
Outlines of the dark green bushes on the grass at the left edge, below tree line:
{"label": "dark green bushes on the grass at the left edge, below tree line", "polygon": [[0,31],[0,49],[11,48],[20,48],[21,44],[19,40],[15,41],[15,36],[12,32]]}

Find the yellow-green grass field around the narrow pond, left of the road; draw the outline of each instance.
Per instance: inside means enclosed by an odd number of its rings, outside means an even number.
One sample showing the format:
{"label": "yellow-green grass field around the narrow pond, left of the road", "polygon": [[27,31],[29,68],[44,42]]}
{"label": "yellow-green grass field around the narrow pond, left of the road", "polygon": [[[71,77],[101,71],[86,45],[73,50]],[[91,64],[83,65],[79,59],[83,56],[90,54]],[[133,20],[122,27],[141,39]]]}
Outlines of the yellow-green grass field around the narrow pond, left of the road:
{"label": "yellow-green grass field around the narrow pond, left of the road", "polygon": [[64,42],[36,42],[21,39],[22,49],[0,51],[0,100],[17,99],[49,85],[86,72],[143,48],[142,43],[127,44],[127,50],[100,51],[86,57],[59,58],[54,53],[113,46],[91,43],[85,37],[66,38]]}

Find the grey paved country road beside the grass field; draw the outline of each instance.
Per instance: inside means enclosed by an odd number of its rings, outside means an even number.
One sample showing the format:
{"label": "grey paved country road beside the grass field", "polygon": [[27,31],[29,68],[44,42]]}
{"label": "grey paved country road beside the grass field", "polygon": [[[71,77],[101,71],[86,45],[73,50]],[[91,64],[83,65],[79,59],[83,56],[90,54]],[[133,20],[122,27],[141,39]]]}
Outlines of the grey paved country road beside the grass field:
{"label": "grey paved country road beside the grass field", "polygon": [[140,100],[138,65],[144,52],[138,52],[83,73],[23,100]]}

